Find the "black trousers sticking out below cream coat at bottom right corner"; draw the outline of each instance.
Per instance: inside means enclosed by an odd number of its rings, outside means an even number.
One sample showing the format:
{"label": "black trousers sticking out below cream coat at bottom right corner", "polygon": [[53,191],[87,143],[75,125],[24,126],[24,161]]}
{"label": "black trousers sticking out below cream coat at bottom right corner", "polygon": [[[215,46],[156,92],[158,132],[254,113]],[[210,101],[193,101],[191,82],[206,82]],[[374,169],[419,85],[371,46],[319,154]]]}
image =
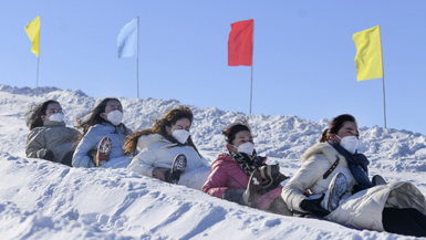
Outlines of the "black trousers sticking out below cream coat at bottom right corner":
{"label": "black trousers sticking out below cream coat at bottom right corner", "polygon": [[383,228],[392,233],[426,237],[426,216],[414,208],[384,208]]}

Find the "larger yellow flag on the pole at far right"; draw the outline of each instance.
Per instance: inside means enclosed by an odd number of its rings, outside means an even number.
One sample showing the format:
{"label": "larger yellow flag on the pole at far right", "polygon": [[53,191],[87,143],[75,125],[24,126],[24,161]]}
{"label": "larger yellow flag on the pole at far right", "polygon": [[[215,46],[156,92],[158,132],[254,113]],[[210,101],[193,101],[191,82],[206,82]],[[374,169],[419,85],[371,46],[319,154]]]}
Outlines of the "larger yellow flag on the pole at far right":
{"label": "larger yellow flag on the pole at far right", "polygon": [[383,77],[380,25],[356,32],[353,35],[353,41],[356,45],[356,80],[363,81]]}

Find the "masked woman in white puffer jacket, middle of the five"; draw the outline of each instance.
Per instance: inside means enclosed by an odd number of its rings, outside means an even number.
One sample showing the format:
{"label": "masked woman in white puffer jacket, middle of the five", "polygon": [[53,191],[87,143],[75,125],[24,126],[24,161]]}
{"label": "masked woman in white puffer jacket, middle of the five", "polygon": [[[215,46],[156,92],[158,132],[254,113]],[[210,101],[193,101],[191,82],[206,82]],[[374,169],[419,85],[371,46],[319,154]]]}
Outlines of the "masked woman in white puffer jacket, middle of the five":
{"label": "masked woman in white puffer jacket, middle of the five", "polygon": [[193,119],[190,108],[179,106],[155,121],[152,128],[133,134],[125,144],[125,152],[139,153],[127,169],[200,190],[209,167],[190,137]]}

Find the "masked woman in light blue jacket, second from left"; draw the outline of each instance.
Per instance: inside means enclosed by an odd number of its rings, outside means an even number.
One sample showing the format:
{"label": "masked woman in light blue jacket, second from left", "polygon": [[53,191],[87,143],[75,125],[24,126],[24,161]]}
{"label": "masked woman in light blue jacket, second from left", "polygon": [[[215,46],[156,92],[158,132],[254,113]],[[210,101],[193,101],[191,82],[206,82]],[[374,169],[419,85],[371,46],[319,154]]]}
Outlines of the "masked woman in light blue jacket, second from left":
{"label": "masked woman in light blue jacket, second from left", "polygon": [[131,131],[122,123],[123,106],[117,98],[105,98],[80,121],[83,136],[75,149],[73,167],[127,167],[131,158],[123,145]]}

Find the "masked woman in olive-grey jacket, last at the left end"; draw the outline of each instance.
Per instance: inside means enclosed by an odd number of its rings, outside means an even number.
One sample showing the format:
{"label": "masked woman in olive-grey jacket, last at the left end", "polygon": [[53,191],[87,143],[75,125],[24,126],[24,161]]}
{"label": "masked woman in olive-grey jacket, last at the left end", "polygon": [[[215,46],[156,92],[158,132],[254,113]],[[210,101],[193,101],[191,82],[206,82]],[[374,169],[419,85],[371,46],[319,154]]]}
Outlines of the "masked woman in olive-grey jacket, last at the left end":
{"label": "masked woman in olive-grey jacket, last at the left end", "polygon": [[74,145],[81,134],[65,126],[61,104],[49,100],[31,108],[25,116],[27,125],[31,131],[27,138],[27,157],[71,166]]}

